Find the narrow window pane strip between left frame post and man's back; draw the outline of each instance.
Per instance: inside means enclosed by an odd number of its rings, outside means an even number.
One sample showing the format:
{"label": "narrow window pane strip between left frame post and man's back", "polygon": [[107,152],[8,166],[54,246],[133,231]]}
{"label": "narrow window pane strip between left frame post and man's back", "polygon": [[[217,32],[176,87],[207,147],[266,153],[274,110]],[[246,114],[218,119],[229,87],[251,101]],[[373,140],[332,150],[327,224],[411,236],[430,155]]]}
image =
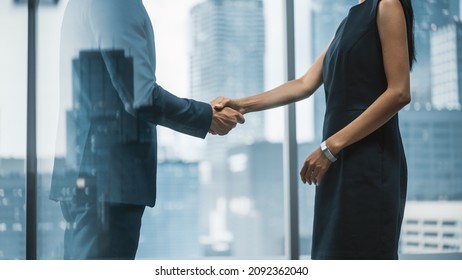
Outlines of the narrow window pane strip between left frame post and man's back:
{"label": "narrow window pane strip between left frame post and man's back", "polygon": [[[55,3],[57,2],[57,3]],[[65,181],[66,145],[59,122],[60,31],[67,1],[41,1],[37,12],[37,258],[62,259],[64,222],[60,205],[50,200],[52,171]],[[63,102],[66,104],[65,102]],[[67,105],[67,104],[66,104]],[[54,161],[56,155],[56,162]]]}

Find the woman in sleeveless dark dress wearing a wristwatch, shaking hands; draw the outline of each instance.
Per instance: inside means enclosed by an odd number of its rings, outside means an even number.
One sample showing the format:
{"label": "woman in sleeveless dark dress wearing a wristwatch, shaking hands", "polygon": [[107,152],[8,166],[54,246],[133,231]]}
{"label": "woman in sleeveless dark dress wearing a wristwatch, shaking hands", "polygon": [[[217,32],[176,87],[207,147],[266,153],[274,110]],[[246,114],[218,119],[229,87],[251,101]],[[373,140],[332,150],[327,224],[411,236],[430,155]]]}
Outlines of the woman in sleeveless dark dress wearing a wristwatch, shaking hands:
{"label": "woman in sleeveless dark dress wearing a wristwatch, shaking hands", "polygon": [[[313,259],[397,259],[407,167],[398,111],[410,102],[410,0],[360,0],[301,78],[215,109],[261,111],[309,97],[324,84],[320,147],[300,172],[316,185]],[[213,133],[213,131],[211,131]]]}

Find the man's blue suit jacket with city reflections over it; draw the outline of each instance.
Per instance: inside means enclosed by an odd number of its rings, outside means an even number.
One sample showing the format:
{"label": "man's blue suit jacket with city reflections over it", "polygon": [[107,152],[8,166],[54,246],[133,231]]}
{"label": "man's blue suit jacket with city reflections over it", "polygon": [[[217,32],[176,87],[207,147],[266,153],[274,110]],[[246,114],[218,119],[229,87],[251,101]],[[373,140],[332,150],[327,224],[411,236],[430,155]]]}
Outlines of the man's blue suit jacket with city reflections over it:
{"label": "man's blue suit jacket with city reflections over it", "polygon": [[53,172],[50,198],[154,206],[156,125],[205,138],[211,106],[156,83],[154,32],[141,0],[70,0],[60,58],[58,141],[65,136],[67,172]]}

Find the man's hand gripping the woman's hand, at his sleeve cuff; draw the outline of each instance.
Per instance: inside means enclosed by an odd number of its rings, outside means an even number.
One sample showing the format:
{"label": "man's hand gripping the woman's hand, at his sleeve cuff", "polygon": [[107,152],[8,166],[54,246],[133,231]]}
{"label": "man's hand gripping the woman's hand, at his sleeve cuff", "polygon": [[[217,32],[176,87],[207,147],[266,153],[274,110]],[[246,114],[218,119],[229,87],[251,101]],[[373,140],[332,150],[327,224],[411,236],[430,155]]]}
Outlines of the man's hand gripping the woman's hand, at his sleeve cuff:
{"label": "man's hand gripping the woman's hand, at his sleeve cuff", "polygon": [[212,124],[210,125],[209,132],[213,135],[226,135],[238,123],[242,124],[244,122],[244,116],[229,107],[225,107],[220,111],[213,109]]}

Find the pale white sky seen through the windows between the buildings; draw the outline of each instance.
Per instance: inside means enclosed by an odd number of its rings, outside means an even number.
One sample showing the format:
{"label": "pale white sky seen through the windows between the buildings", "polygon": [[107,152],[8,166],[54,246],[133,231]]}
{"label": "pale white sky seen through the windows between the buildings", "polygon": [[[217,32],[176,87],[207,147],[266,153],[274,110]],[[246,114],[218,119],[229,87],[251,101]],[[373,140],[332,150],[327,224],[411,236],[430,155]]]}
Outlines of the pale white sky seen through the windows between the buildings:
{"label": "pale white sky seen through the windows between the buildings", "polygon": [[[188,20],[191,7],[203,0],[144,0],[156,34],[157,80],[169,91],[188,97]],[[297,74],[309,66],[308,36],[310,1],[296,0]],[[41,6],[37,15],[37,150],[39,157],[51,157],[65,151],[56,141],[58,124],[59,31],[67,0],[57,6]],[[266,0],[265,87],[273,88],[285,80],[283,1]],[[306,27],[306,28],[305,28]],[[26,151],[27,111],[27,9],[13,0],[0,0],[0,157],[24,157]],[[203,100],[209,101],[209,100]],[[297,139],[312,138],[312,104],[297,105]],[[269,141],[282,141],[283,108],[267,111],[265,135]],[[232,132],[231,132],[232,133]],[[181,143],[185,147],[201,141],[160,129],[160,145]],[[180,152],[181,153],[181,152]]]}

